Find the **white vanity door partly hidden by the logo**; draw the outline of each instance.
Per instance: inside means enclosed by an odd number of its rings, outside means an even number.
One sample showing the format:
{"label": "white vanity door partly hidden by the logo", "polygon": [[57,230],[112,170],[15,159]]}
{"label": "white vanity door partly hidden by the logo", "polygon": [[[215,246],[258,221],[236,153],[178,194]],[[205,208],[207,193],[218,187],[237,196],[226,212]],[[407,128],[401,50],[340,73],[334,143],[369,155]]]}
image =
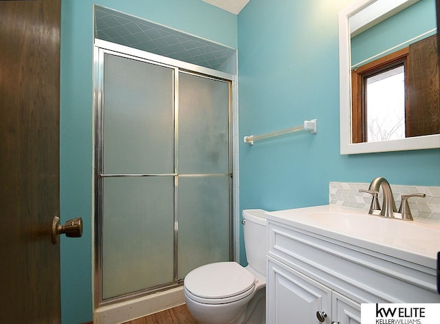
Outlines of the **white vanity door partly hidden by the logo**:
{"label": "white vanity door partly hidden by the logo", "polygon": [[332,294],[332,323],[360,324],[360,304],[334,292]]}

